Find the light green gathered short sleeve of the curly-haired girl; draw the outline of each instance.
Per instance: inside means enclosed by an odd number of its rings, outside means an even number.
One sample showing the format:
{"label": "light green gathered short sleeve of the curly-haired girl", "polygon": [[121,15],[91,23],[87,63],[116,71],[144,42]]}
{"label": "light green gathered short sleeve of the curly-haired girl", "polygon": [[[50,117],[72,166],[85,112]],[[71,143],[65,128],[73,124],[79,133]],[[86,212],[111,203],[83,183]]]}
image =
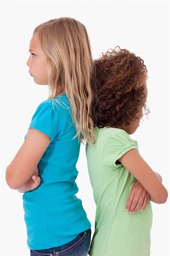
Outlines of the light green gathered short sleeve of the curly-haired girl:
{"label": "light green gathered short sleeve of the curly-haired girl", "polygon": [[138,150],[138,142],[133,141],[126,131],[115,129],[103,148],[103,164],[116,167],[117,160],[133,148]]}

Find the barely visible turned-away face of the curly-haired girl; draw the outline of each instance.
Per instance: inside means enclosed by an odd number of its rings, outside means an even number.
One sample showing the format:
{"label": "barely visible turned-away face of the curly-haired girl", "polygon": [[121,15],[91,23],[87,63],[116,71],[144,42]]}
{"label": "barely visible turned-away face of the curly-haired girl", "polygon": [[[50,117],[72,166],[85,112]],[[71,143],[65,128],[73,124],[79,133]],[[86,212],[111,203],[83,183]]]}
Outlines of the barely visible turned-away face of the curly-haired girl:
{"label": "barely visible turned-away face of the curly-haired girl", "polygon": [[[146,98],[144,99],[144,102],[146,102],[147,94],[148,94],[147,86],[145,86],[144,93],[146,95]],[[140,123],[140,119],[143,117],[142,109],[143,109],[143,105],[141,105],[139,107],[139,113],[138,113],[139,118],[138,119],[135,119],[135,120],[131,121],[130,125],[125,125],[125,126],[121,127],[123,130],[126,131],[126,133],[133,134],[138,129],[139,123]]]}

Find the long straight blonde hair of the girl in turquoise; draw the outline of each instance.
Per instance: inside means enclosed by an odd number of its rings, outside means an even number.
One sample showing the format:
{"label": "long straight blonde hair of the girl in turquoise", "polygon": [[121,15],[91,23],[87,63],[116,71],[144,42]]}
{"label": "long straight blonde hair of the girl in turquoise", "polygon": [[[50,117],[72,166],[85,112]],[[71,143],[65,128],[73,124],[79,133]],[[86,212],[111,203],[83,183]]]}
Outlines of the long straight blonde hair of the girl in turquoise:
{"label": "long straight blonde hair of the girl in turquoise", "polygon": [[91,118],[94,63],[86,28],[73,18],[52,19],[35,28],[48,59],[49,98],[67,94],[76,137],[94,140]]}

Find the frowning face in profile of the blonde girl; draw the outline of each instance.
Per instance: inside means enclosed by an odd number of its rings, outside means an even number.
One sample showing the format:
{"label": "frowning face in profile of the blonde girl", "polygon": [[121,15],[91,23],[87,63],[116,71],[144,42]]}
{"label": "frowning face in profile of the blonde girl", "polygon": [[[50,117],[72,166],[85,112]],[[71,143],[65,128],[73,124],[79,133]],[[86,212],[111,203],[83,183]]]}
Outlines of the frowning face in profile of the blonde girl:
{"label": "frowning face in profile of the blonde girl", "polygon": [[38,35],[34,34],[30,42],[30,57],[27,65],[30,68],[29,73],[34,78],[36,84],[48,84],[47,75],[47,56],[40,46]]}

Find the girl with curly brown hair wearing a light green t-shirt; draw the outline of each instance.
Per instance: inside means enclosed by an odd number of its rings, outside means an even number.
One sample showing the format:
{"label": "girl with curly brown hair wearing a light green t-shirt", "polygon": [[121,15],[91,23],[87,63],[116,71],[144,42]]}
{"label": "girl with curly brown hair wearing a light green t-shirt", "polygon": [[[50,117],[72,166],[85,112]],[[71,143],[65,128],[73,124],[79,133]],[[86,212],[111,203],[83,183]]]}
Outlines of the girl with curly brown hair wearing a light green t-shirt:
{"label": "girl with curly brown hair wearing a light green t-shirt", "polygon": [[[167,190],[142,159],[129,134],[148,113],[147,68],[126,49],[115,48],[95,61],[96,94],[93,121],[96,142],[87,146],[90,181],[96,201],[93,256],[150,255],[151,203],[146,209],[127,208],[128,194],[137,180],[155,203],[165,203]],[[138,201],[136,202],[138,204]],[[126,205],[126,206],[125,206]],[[134,213],[134,214],[130,214]]]}

